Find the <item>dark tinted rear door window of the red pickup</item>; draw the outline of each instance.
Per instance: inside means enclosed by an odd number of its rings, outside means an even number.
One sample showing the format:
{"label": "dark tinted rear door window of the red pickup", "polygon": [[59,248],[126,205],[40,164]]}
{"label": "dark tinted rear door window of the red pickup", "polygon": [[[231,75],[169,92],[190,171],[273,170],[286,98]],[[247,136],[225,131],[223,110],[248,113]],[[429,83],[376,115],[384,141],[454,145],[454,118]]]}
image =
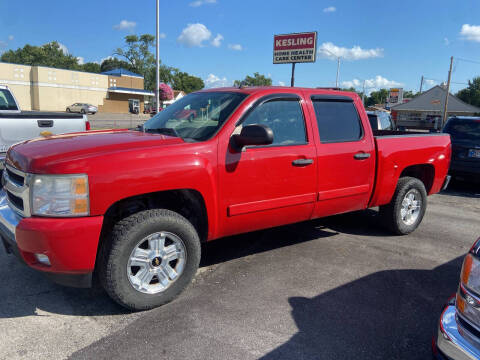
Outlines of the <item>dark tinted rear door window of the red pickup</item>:
{"label": "dark tinted rear door window of the red pickup", "polygon": [[363,137],[360,117],[353,101],[312,98],[320,142],[358,141]]}

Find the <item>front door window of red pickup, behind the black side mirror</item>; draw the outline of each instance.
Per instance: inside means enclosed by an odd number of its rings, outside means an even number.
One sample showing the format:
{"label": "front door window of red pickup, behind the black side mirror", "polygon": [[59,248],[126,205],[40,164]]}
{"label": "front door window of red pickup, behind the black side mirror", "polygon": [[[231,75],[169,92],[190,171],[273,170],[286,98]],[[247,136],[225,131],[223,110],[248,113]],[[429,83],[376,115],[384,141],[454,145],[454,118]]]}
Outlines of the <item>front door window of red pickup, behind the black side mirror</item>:
{"label": "front door window of red pickup, behind the black side mirror", "polygon": [[235,129],[238,134],[246,125],[266,125],[273,131],[273,143],[278,145],[302,145],[307,143],[305,120],[297,99],[275,99],[253,109]]}

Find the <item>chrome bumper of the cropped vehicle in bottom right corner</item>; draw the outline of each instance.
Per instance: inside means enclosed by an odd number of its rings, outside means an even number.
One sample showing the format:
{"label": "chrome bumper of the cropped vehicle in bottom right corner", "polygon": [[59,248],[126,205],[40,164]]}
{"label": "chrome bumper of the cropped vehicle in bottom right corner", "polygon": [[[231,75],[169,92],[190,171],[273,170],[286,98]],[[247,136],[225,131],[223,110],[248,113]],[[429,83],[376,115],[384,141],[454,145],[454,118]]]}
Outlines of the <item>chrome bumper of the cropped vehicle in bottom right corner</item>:
{"label": "chrome bumper of the cropped vehicle in bottom right corner", "polygon": [[[463,329],[461,331],[466,332]],[[455,305],[449,304],[443,311],[436,340],[437,348],[450,359],[480,359],[480,350],[459,332]]]}

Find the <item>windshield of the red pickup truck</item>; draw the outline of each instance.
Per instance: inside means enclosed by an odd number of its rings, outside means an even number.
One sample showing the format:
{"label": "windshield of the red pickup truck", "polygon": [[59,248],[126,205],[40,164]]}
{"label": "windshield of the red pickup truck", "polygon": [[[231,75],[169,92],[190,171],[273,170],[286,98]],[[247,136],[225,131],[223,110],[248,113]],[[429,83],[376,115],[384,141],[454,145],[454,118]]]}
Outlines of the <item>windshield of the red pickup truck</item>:
{"label": "windshield of the red pickup truck", "polygon": [[143,129],[183,139],[208,140],[246,96],[231,92],[189,94],[148,120]]}

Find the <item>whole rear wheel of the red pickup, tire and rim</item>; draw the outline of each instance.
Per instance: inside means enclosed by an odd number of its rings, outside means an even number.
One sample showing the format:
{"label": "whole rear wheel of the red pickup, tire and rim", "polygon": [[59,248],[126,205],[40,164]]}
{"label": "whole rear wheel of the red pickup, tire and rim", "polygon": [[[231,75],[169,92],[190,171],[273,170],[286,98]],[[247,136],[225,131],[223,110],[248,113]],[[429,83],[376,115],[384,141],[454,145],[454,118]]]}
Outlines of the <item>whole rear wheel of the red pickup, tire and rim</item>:
{"label": "whole rear wheel of the red pickup, tire and rim", "polygon": [[427,209],[427,191],[423,182],[413,177],[400,178],[390,204],[380,206],[384,225],[397,235],[414,231]]}

